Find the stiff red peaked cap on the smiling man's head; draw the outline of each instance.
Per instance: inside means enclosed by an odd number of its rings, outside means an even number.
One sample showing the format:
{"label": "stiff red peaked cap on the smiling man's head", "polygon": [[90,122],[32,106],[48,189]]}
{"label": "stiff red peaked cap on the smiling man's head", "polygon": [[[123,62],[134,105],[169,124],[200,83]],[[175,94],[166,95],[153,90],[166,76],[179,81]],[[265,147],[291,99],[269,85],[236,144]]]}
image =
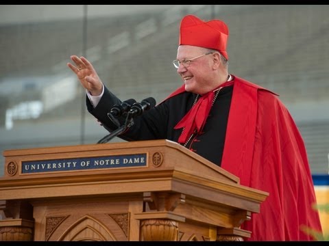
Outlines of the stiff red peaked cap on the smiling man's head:
{"label": "stiff red peaked cap on the smiling man's head", "polygon": [[203,21],[193,15],[182,18],[179,45],[193,45],[215,49],[228,59],[228,26],[221,20]]}

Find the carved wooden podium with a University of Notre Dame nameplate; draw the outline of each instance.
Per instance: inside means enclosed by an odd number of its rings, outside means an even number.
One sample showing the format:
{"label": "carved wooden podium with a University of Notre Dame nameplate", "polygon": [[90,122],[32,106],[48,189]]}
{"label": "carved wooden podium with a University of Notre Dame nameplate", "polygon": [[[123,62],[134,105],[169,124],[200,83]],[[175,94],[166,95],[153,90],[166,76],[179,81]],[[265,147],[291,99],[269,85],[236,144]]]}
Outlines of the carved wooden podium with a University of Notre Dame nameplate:
{"label": "carved wooden podium with a University of Notre Dame nameplate", "polygon": [[3,156],[0,241],[243,241],[268,195],[164,139]]}

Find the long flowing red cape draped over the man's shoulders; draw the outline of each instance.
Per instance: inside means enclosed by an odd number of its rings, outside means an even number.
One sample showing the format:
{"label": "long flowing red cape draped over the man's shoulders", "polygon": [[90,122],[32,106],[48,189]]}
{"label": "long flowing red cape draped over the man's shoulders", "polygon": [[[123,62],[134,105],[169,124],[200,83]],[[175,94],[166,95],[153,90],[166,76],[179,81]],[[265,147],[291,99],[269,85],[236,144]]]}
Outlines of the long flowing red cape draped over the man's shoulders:
{"label": "long flowing red cape draped over the man's shoulders", "polygon": [[[184,85],[169,97],[184,92]],[[168,98],[169,98],[168,97]],[[248,241],[311,241],[301,230],[321,232],[313,180],[304,141],[286,107],[269,90],[234,77],[234,89],[221,167],[240,184],[267,191],[241,228]]]}

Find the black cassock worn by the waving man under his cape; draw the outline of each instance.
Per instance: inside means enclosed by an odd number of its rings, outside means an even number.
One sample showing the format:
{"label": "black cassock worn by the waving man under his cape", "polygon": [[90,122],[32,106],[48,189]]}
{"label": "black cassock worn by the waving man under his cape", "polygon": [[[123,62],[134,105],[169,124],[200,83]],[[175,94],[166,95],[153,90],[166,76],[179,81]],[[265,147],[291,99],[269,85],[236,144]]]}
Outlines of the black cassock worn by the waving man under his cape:
{"label": "black cassock worn by the waving man under his cape", "polygon": [[[185,145],[186,148],[219,166],[221,165],[223,154],[232,91],[233,85],[221,89],[210,109],[202,133],[191,137]],[[182,129],[175,130],[174,127],[191,109],[196,97],[197,94],[183,92],[164,100],[153,109],[145,111],[143,115],[134,118],[134,125],[118,137],[126,141],[169,139],[177,142]],[[108,118],[107,114],[113,105],[121,104],[121,100],[117,96],[114,96],[106,87],[95,109],[88,97],[86,104],[89,113],[94,115],[108,131],[113,131],[117,128]],[[125,118],[121,117],[119,121],[123,124]]]}

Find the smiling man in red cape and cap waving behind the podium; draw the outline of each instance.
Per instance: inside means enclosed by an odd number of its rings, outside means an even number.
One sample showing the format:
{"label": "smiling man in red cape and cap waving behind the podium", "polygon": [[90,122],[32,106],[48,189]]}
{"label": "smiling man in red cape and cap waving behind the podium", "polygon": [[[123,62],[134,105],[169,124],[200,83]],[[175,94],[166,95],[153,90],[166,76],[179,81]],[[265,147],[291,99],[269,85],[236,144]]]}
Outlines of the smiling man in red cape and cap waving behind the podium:
{"label": "smiling man in red cape and cap waving behind the podium", "polygon": [[[226,169],[240,183],[269,197],[260,213],[241,226],[250,241],[311,241],[301,228],[321,232],[304,141],[276,94],[228,73],[228,27],[188,15],[180,25],[173,65],[184,85],[134,118],[120,135],[127,141],[169,139]],[[107,113],[121,100],[99,79],[92,64],[71,56],[68,64],[87,90],[86,103],[110,131]],[[124,118],[118,118],[123,122]]]}

